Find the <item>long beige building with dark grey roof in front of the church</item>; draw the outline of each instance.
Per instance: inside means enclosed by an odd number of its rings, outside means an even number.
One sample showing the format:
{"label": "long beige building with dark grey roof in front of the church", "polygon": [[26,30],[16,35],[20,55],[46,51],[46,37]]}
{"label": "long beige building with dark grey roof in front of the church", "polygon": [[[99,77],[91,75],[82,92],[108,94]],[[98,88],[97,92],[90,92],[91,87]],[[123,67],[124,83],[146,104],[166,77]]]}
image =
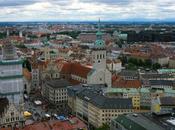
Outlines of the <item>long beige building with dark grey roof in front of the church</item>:
{"label": "long beige building with dark grey roof in front of the church", "polygon": [[[74,87],[68,89],[68,105],[73,108],[76,116],[93,127],[103,123],[110,124],[111,120],[120,114],[133,112],[131,98],[109,98],[103,91],[93,87]],[[72,106],[71,106],[72,105]]]}

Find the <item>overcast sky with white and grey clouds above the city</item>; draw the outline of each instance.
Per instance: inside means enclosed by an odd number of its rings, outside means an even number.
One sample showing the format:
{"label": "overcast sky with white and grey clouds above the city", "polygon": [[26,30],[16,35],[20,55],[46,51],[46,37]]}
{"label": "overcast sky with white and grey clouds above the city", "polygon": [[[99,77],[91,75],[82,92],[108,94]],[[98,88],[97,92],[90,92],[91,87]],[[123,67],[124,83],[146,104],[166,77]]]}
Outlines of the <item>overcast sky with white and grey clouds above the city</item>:
{"label": "overcast sky with white and grey clouds above the city", "polygon": [[0,0],[0,21],[175,20],[175,0]]}

